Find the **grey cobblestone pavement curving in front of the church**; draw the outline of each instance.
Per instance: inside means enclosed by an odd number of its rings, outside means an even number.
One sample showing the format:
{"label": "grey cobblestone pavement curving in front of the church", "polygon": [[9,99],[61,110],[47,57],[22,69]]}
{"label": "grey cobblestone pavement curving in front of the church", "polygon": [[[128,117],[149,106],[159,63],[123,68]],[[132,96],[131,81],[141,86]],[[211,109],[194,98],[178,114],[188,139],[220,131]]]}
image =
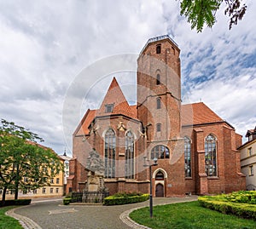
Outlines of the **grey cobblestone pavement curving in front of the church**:
{"label": "grey cobblestone pavement curving in front of the church", "polygon": [[[186,198],[154,198],[154,205],[196,200]],[[14,209],[9,215],[22,221],[27,229],[128,229],[139,226],[129,218],[133,209],[148,206],[148,201],[118,206],[62,205],[61,199],[32,201],[31,205]],[[149,214],[149,213],[148,213]]]}

